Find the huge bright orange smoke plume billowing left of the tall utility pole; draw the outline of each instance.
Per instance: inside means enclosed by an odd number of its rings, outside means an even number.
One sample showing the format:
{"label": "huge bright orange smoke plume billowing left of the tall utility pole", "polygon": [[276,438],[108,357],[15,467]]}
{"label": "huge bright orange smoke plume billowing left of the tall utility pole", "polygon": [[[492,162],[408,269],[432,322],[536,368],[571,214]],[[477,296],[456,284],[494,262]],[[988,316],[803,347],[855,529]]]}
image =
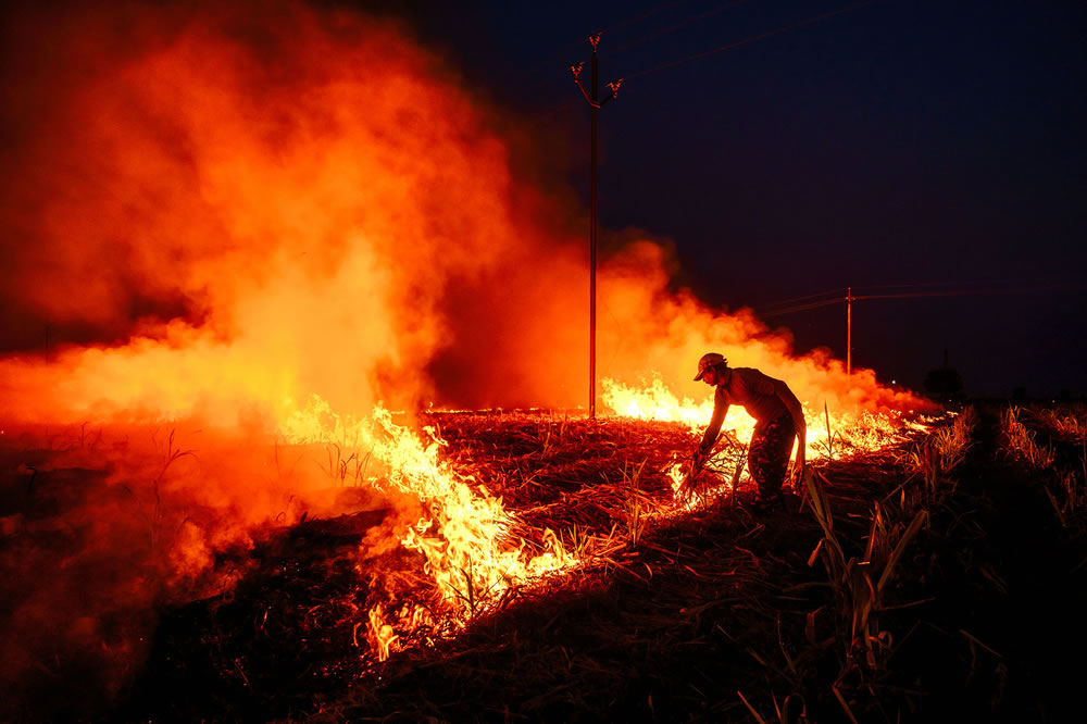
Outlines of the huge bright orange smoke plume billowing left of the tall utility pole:
{"label": "huge bright orange smoke plume billowing left of the tall utility pole", "polygon": [[[0,209],[2,288],[112,344],[9,366],[33,419],[42,397],[47,414],[227,424],[311,394],[410,405],[434,397],[426,367],[458,344],[451,317],[475,312],[461,326],[486,329],[499,302],[523,303],[475,283],[511,250],[518,266],[541,261],[524,254],[541,253],[540,232],[513,217],[505,147],[437,61],[373,22],[252,11],[157,33],[159,16],[129,10],[85,18],[78,45],[63,28],[42,45],[66,49],[54,75],[76,70],[49,78],[41,130],[23,125],[25,173],[3,179],[18,192]],[[485,298],[451,308],[454,280]]]}

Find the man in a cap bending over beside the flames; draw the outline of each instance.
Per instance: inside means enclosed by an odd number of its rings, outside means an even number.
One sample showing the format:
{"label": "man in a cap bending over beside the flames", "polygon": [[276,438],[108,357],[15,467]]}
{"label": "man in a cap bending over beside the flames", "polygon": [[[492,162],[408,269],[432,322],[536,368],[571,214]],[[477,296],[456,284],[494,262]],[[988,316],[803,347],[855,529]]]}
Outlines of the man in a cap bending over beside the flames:
{"label": "man in a cap bending over beside the flames", "polygon": [[[696,464],[713,449],[729,405],[738,404],[755,420],[754,433],[748,445],[748,470],[759,485],[755,502],[767,507],[780,501],[792,444],[798,439],[797,474],[802,475],[804,469],[808,425],[800,400],[780,379],[750,367],[729,367],[728,361],[716,352],[703,354],[698,361],[695,380],[699,379],[716,389],[713,392],[713,417],[698,447]],[[692,483],[694,475],[688,480]]]}

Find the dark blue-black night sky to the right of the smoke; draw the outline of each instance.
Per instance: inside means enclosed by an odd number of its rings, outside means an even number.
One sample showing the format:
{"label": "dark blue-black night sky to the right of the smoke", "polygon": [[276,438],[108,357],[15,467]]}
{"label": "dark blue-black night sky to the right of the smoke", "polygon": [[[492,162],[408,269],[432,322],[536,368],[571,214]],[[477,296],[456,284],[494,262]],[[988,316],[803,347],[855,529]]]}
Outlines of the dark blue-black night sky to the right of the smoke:
{"label": "dark blue-black night sky to the right of the smoke", "polygon": [[[859,301],[854,364],[920,388],[947,349],[972,395],[1087,394],[1087,3],[876,0],[644,75],[848,3],[390,4],[542,129],[562,151],[549,183],[586,205],[588,109],[566,66],[605,30],[601,84],[627,80],[600,113],[601,224],[674,240],[707,302],[1016,290]],[[766,322],[845,357],[845,319]]]}

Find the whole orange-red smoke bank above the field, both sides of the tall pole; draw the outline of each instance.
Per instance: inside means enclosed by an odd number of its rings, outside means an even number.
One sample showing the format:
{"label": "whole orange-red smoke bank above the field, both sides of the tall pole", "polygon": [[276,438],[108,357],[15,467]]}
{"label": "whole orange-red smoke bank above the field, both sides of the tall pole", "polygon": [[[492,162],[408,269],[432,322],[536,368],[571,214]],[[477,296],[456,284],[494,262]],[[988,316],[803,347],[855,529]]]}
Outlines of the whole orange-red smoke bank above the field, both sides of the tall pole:
{"label": "whole orange-red smoke bank above the field, both sides of the tall pole", "polygon": [[[7,362],[14,411],[584,404],[582,229],[545,222],[558,209],[511,177],[493,114],[388,25],[261,8],[13,24],[46,41],[7,78],[5,305],[109,342]],[[719,349],[809,398],[890,401],[670,294],[664,255],[602,261],[601,376],[677,385]]]}

